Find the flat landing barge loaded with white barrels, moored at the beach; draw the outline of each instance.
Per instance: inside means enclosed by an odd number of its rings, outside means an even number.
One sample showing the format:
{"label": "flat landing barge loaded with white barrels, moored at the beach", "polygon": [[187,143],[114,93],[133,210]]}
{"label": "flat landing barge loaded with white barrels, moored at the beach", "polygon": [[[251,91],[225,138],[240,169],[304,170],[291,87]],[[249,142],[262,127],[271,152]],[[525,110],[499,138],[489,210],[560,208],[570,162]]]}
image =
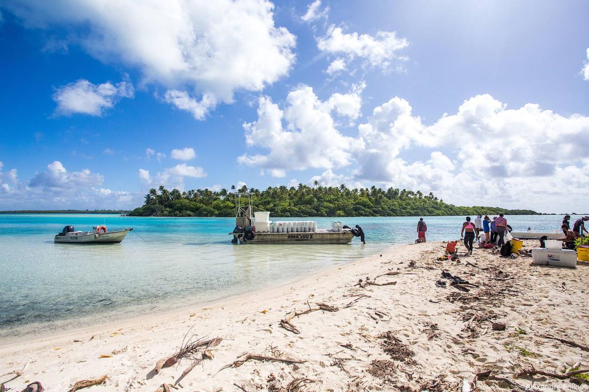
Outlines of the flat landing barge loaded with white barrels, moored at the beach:
{"label": "flat landing barge loaded with white barrels, moored at the beach", "polygon": [[[247,199],[241,205],[241,197]],[[252,195],[236,193],[235,229],[229,233],[232,243],[252,244],[347,244],[353,237],[359,237],[358,229],[333,222],[331,229],[317,229],[317,222],[272,222],[270,213],[253,213]]]}

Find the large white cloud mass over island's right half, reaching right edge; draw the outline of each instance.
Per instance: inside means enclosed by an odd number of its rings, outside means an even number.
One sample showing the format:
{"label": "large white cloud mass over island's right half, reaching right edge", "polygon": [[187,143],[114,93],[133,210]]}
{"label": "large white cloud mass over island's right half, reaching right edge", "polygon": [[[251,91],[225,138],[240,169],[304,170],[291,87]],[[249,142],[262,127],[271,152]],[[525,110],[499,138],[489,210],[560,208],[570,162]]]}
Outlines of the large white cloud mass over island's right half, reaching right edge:
{"label": "large white cloud mass over island's right half, reaching right edge", "polygon": [[490,95],[465,100],[455,115],[430,126],[411,110],[395,97],[359,126],[356,179],[432,191],[462,205],[583,209],[567,195],[589,190],[583,171],[589,117],[564,117],[532,103],[507,109]]}

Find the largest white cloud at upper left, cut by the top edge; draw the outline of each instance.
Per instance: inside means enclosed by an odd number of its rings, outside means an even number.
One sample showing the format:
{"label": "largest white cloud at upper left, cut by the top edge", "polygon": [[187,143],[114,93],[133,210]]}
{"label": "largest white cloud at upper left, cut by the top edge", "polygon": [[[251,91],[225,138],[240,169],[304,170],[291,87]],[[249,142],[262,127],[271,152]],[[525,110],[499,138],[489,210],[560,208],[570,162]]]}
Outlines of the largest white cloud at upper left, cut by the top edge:
{"label": "largest white cloud at upper left, cut by the top edge", "polygon": [[137,67],[144,83],[166,86],[165,99],[197,119],[219,102],[233,102],[235,91],[276,82],[295,58],[296,38],[274,25],[274,5],[266,0],[8,0],[4,6],[26,26],[59,26],[101,61]]}

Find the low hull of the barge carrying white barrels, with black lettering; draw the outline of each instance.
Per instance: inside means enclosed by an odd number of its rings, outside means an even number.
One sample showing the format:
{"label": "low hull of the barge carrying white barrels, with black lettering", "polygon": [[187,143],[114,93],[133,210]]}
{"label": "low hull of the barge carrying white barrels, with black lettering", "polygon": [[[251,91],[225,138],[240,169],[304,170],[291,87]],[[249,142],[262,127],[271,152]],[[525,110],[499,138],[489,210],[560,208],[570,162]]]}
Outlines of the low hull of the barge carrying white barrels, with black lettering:
{"label": "low hull of the barge carrying white barrels, with black lettering", "polygon": [[[233,233],[231,233],[233,234]],[[322,232],[310,233],[254,233],[252,240],[246,240],[247,244],[348,244],[352,241],[354,234],[346,230],[344,232]],[[243,234],[233,234],[243,240]]]}

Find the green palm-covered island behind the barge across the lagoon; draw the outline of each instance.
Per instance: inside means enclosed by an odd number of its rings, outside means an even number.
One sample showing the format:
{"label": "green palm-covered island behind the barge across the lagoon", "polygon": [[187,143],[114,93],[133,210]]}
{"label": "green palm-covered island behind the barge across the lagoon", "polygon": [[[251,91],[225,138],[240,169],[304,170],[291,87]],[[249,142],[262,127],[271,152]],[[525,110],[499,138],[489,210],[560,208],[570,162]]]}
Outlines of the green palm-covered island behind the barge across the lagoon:
{"label": "green palm-covered island behind the barge across the lagoon", "polygon": [[145,195],[145,204],[130,213],[131,216],[234,216],[234,193],[250,192],[254,211],[269,211],[274,217],[289,216],[447,216],[475,215],[536,215],[531,210],[506,210],[499,207],[457,207],[438,200],[432,193],[389,188],[348,189],[339,187],[268,187],[266,190],[209,189],[180,192],[160,186]]}

